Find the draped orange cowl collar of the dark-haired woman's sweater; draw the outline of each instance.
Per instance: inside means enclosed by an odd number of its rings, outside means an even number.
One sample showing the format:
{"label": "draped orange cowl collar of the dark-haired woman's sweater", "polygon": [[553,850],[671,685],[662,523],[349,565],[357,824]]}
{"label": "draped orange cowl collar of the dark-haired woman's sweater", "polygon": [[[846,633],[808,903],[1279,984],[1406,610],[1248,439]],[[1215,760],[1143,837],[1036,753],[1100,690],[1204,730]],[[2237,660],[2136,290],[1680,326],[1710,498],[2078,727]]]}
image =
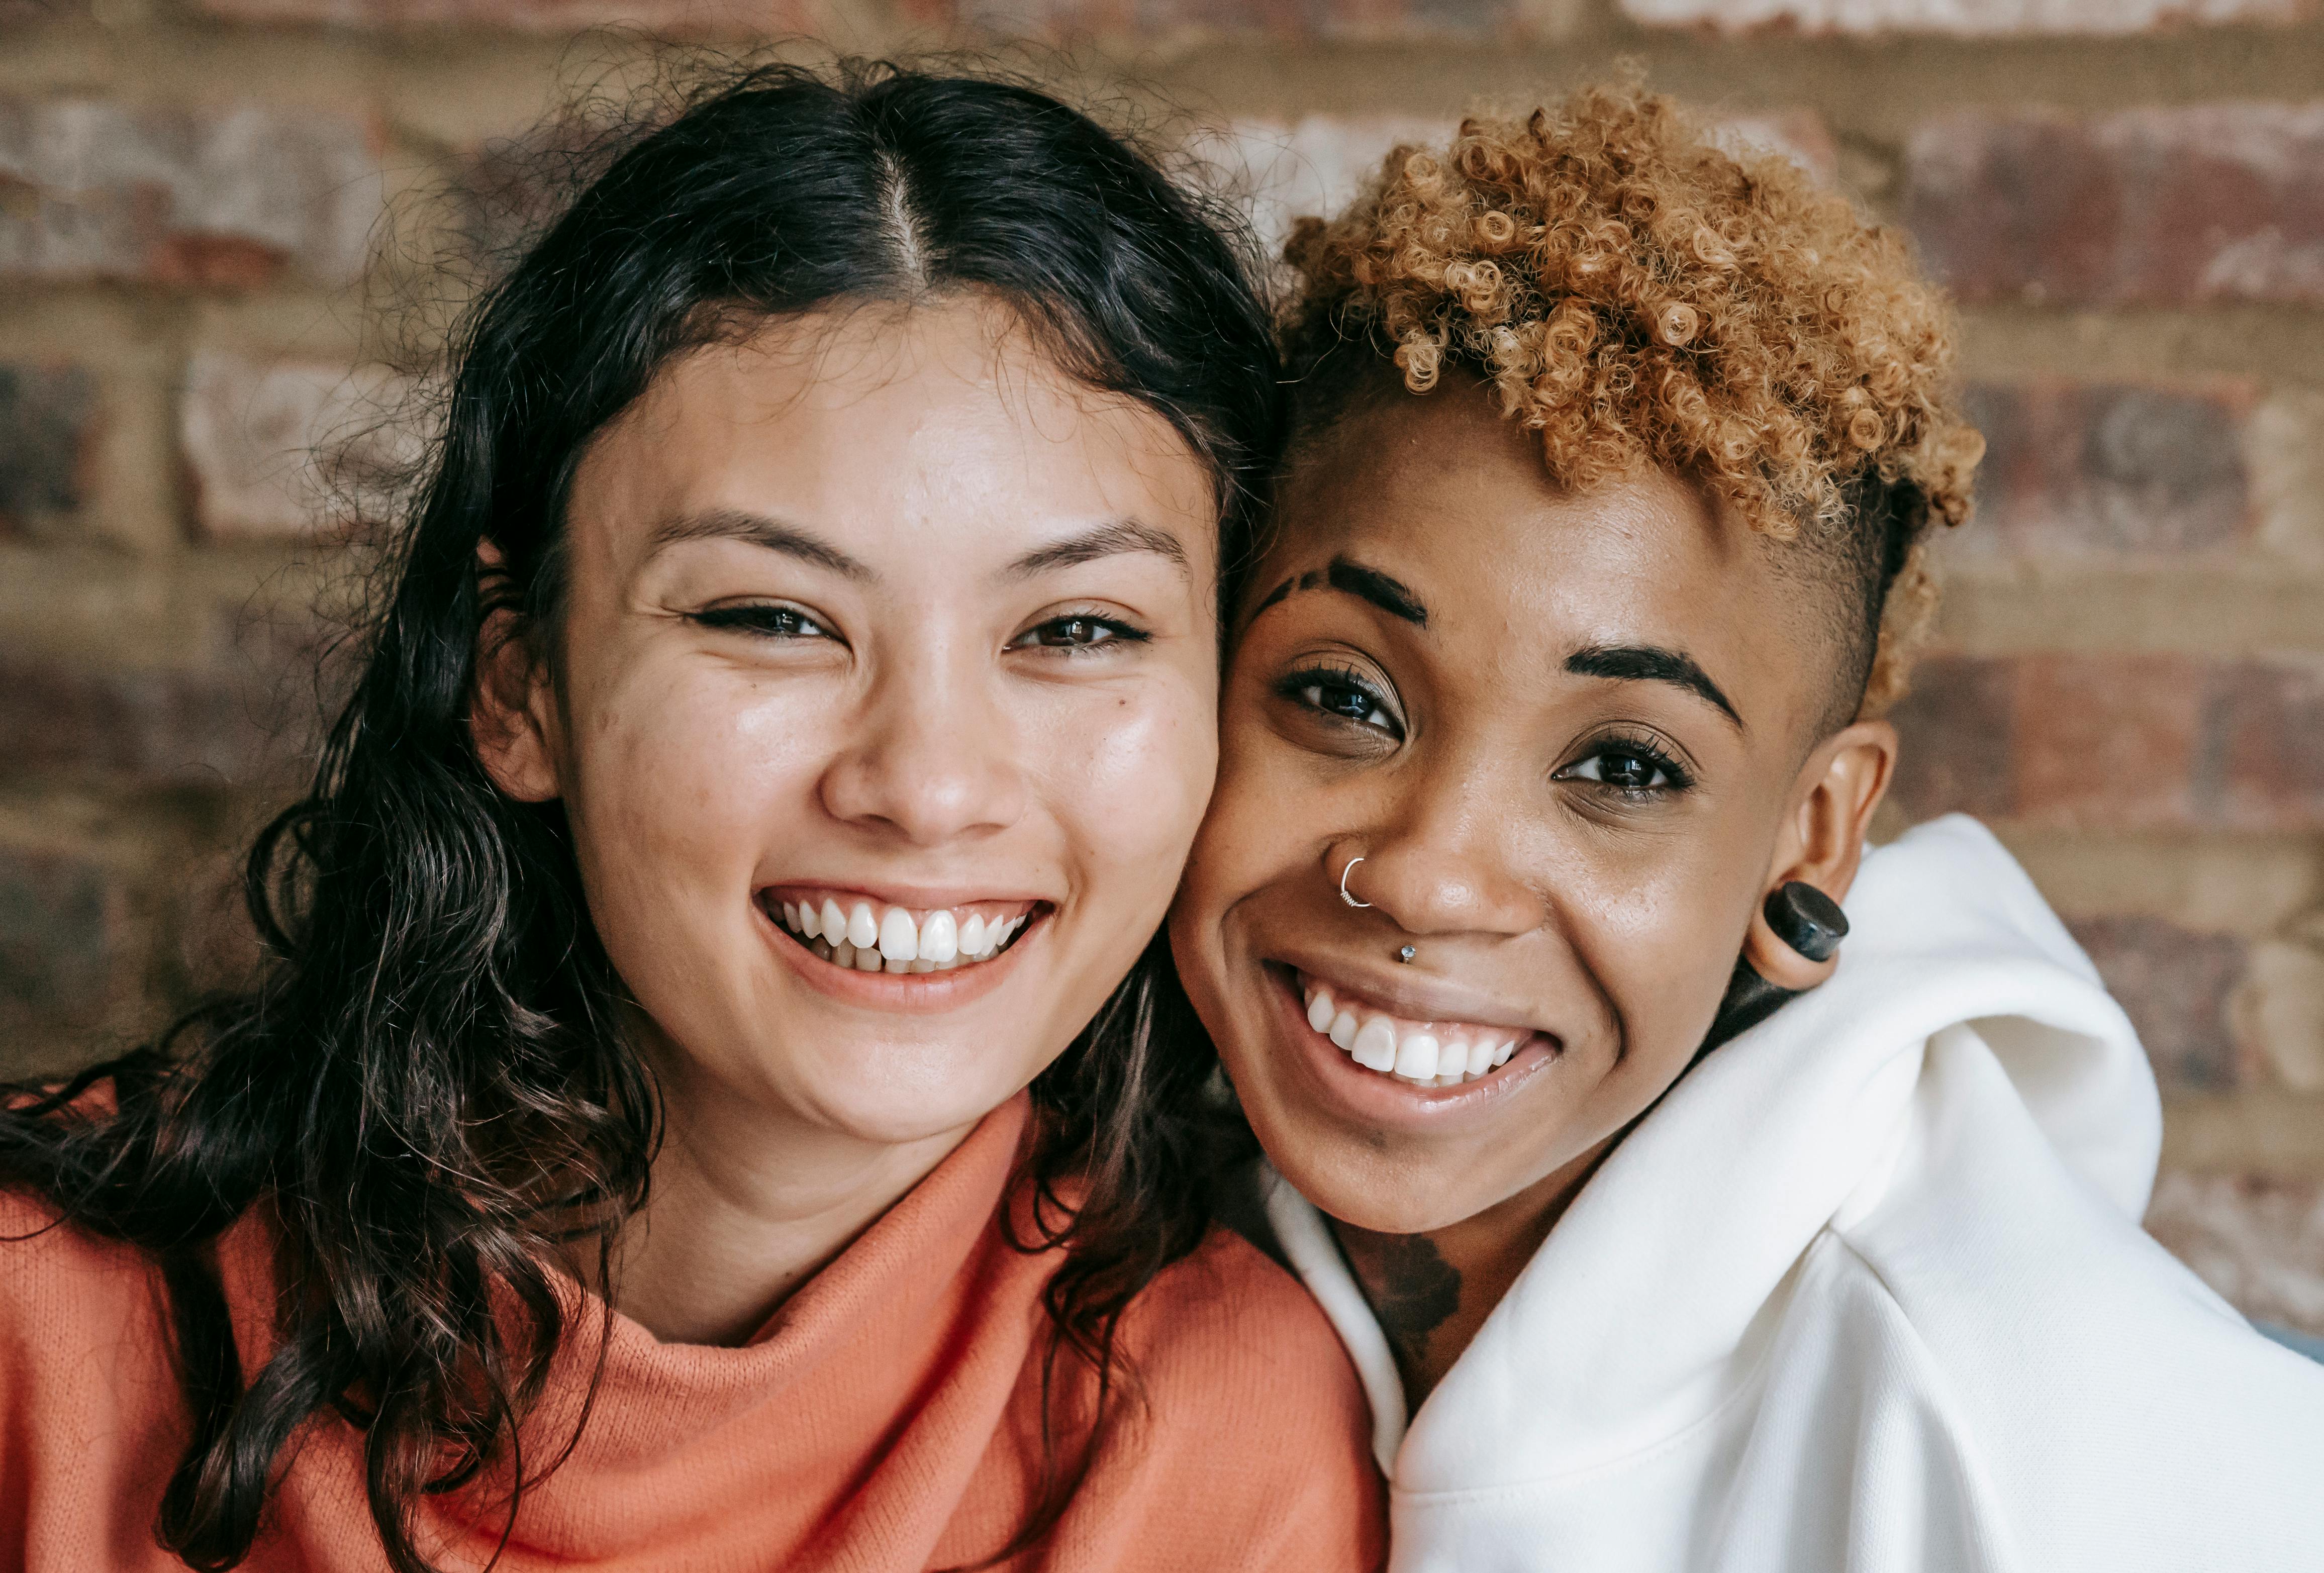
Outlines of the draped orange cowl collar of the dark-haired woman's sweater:
{"label": "draped orange cowl collar of the dark-haired woman's sweater", "polygon": [[[962,1531],[960,1559],[1006,1540],[1027,1492],[992,1438],[1043,1336],[1055,1266],[997,1229],[1025,1125],[1023,1094],[990,1113],[746,1345],[660,1343],[616,1313],[588,1422],[523,1494],[500,1566],[918,1568]],[[258,1266],[228,1278],[251,1285]],[[579,1336],[525,1424],[530,1471],[572,1438],[595,1364],[604,1303],[574,1294]],[[249,1299],[235,1301],[244,1322]],[[360,1480],[360,1438],[323,1427],[270,1540],[297,1543],[307,1568],[376,1566]],[[481,1561],[504,1522],[504,1494],[462,1494],[432,1513],[444,1538],[430,1552]]]}

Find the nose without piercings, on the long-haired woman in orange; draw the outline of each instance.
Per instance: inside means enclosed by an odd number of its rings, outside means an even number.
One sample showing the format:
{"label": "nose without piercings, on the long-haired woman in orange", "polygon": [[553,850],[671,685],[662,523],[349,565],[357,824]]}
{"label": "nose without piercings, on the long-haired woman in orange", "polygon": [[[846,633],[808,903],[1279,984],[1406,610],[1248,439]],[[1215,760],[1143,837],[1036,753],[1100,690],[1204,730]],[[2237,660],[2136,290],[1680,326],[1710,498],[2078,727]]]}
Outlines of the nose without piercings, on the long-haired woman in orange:
{"label": "nose without piercings, on the long-haired woman in orange", "polygon": [[992,674],[944,655],[932,665],[892,667],[865,692],[846,744],[823,771],[832,818],[941,846],[1023,816],[1023,760],[995,704]]}

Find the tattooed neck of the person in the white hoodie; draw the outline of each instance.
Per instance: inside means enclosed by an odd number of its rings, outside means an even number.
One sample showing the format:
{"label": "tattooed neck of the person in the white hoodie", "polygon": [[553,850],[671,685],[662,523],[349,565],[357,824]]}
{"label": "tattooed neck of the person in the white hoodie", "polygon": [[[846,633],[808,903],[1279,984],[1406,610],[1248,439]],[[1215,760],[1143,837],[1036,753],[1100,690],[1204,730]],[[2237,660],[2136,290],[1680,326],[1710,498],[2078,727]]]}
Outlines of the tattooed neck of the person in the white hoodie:
{"label": "tattooed neck of the person in the white hoodie", "polygon": [[1373,1234],[1332,1220],[1355,1283],[1397,1357],[1406,1413],[1420,1413],[1420,1401],[1462,1357],[1611,1150],[1613,1141],[1606,1141],[1515,1197],[1443,1229]]}

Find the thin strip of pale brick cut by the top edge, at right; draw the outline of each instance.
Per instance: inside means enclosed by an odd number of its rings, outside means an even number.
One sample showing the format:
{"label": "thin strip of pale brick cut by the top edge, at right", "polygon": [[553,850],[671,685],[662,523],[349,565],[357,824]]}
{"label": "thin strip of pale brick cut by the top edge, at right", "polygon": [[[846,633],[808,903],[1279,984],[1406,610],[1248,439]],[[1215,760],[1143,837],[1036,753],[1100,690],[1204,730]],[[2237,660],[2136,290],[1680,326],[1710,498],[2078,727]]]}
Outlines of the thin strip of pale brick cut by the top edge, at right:
{"label": "thin strip of pale brick cut by the top edge, at right", "polygon": [[2045,33],[2147,33],[2187,23],[2284,23],[2305,0],[1622,0],[1650,28],[1750,33],[1948,33],[2010,37]]}

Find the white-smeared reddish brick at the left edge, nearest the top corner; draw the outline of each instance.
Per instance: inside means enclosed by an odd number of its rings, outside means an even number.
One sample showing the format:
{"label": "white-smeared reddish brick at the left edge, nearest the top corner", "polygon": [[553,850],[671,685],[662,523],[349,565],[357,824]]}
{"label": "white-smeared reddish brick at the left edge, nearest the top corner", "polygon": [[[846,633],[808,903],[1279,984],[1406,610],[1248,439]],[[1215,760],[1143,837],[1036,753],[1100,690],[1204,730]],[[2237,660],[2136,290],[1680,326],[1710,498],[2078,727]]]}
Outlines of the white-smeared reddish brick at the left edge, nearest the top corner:
{"label": "white-smeared reddish brick at the left edge, nearest the top corner", "polygon": [[258,105],[0,100],[0,279],[344,283],[381,214],[365,121]]}

